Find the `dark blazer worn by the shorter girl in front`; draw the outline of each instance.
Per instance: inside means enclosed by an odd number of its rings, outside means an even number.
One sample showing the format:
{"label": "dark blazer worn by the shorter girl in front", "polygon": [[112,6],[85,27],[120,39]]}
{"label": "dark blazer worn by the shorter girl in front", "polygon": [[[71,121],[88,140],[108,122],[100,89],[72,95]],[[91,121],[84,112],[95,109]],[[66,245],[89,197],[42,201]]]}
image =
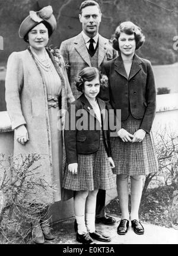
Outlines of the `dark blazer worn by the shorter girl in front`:
{"label": "dark blazer worn by the shorter girl in front", "polygon": [[[105,103],[103,100],[98,99],[98,105],[100,107],[101,112],[101,122],[102,125],[106,125],[106,122],[108,122],[109,118],[107,115],[104,115],[103,110],[106,109],[107,111],[111,109],[111,106],[109,103]],[[75,105],[75,113],[72,113],[71,106]],[[64,138],[65,138],[65,148],[66,148],[66,157],[67,162],[69,163],[77,163],[77,154],[91,154],[98,150],[100,146],[100,127],[99,121],[96,118],[96,115],[94,115],[94,111],[90,103],[88,102],[87,98],[84,96],[84,94],[81,94],[81,96],[71,103],[71,106],[68,108],[68,117],[66,118],[66,124],[65,124],[65,132],[64,132]],[[92,109],[92,110],[91,110]],[[76,116],[76,112],[78,110],[85,110],[85,121],[87,120],[87,127],[86,129],[78,129],[78,127],[75,126],[75,129],[72,129],[71,122],[76,123],[79,121],[79,119],[82,117],[82,115]],[[91,111],[90,111],[91,110]],[[74,117],[75,115],[75,117]],[[84,122],[85,122],[84,121]],[[68,126],[69,124],[69,126]],[[94,124],[94,129],[91,130],[90,125]],[[98,127],[98,128],[97,128]],[[69,128],[69,129],[68,129]],[[104,146],[106,148],[106,152],[108,156],[111,156],[110,152],[110,131],[109,129],[103,130],[103,136],[104,136]]]}

